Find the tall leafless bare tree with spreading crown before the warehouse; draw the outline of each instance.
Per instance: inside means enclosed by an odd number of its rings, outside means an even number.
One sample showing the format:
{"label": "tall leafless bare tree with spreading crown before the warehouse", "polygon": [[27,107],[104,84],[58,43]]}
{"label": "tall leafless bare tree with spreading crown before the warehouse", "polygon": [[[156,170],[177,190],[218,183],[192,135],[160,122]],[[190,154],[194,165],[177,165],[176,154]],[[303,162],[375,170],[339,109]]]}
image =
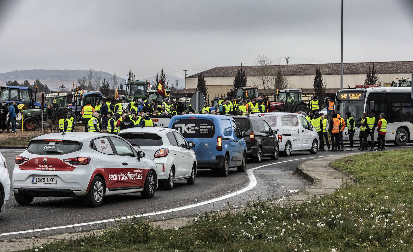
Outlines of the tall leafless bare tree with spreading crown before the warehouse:
{"label": "tall leafless bare tree with spreading crown before the warehouse", "polygon": [[256,64],[258,68],[258,76],[255,78],[255,85],[260,88],[261,95],[273,95],[271,89],[274,88],[274,73],[272,70],[273,60],[264,55],[258,55]]}

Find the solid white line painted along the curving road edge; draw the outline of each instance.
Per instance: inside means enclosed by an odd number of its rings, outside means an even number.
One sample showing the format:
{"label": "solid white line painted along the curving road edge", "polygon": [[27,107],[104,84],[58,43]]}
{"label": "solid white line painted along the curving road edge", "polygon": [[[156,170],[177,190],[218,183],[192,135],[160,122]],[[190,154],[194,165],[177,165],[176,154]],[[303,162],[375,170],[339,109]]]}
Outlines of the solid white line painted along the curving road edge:
{"label": "solid white line painted along the curving road edge", "polygon": [[[316,157],[316,158],[329,157],[329,156],[334,156],[334,155],[324,155],[324,156],[319,156],[319,157]],[[92,224],[99,224],[99,223],[106,223],[106,222],[111,222],[111,221],[131,219],[133,217],[139,217],[139,216],[150,216],[150,215],[166,214],[166,213],[170,213],[170,212],[176,212],[176,211],[180,211],[180,210],[184,210],[184,209],[188,209],[188,208],[202,206],[202,205],[205,205],[205,204],[209,204],[209,203],[217,202],[217,201],[220,201],[220,200],[228,199],[230,197],[233,197],[235,195],[244,193],[244,192],[254,188],[256,186],[256,178],[254,177],[254,174],[252,172],[255,171],[256,169],[259,169],[259,168],[262,168],[262,167],[265,167],[265,166],[274,165],[274,164],[281,164],[281,163],[285,163],[285,162],[291,162],[291,161],[297,161],[297,160],[309,159],[309,158],[314,158],[314,156],[291,159],[291,160],[285,160],[285,161],[275,162],[275,163],[271,163],[271,164],[264,164],[264,165],[249,169],[247,171],[248,178],[249,178],[249,185],[246,188],[243,188],[243,189],[238,190],[234,193],[230,193],[228,195],[221,196],[221,197],[218,197],[218,198],[215,198],[215,199],[211,199],[211,200],[207,200],[207,201],[203,201],[203,202],[199,202],[199,203],[195,203],[195,204],[190,204],[190,205],[183,206],[183,207],[176,207],[176,208],[172,208],[172,209],[166,209],[166,210],[151,212],[151,213],[146,213],[146,214],[137,214],[137,215],[125,216],[125,217],[116,218],[116,219],[107,219],[107,220],[102,220],[102,221],[92,221],[92,222],[78,223],[78,224],[72,224],[72,225],[66,225],[66,226],[57,226],[57,227],[51,227],[51,228],[38,228],[38,229],[31,229],[31,230],[24,230],[24,231],[10,232],[10,233],[2,233],[2,234],[0,234],[0,236],[17,235],[17,234],[23,234],[23,233],[33,233],[33,232],[48,231],[48,230],[55,230],[55,229],[62,229],[62,228],[73,228],[73,227],[78,227],[78,226],[87,226],[87,225],[92,225]]]}

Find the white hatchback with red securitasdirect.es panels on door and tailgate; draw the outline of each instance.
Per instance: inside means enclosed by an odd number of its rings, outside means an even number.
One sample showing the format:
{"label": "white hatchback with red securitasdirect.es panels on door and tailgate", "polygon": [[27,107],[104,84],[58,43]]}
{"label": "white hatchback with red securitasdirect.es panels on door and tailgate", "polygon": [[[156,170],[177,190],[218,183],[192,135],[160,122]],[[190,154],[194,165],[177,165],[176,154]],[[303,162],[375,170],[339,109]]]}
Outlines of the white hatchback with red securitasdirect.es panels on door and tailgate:
{"label": "white hatchback with red securitasdirect.es panels on door and tailgate", "polygon": [[140,192],[152,198],[157,188],[155,163],[123,138],[104,133],[51,133],[33,138],[16,157],[14,197],[83,197],[99,207],[105,195]]}

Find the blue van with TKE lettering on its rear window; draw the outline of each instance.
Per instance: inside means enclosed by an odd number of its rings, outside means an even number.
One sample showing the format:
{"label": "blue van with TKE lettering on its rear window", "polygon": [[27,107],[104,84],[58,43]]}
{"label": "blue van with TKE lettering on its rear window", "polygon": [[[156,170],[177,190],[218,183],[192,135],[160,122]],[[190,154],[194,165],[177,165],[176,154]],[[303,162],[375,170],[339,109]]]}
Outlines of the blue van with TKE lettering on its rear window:
{"label": "blue van with TKE lettering on its rear window", "polygon": [[197,168],[218,171],[228,176],[230,168],[245,171],[247,145],[245,132],[240,131],[230,116],[185,114],[172,116],[169,128],[178,130],[187,141],[195,142]]}

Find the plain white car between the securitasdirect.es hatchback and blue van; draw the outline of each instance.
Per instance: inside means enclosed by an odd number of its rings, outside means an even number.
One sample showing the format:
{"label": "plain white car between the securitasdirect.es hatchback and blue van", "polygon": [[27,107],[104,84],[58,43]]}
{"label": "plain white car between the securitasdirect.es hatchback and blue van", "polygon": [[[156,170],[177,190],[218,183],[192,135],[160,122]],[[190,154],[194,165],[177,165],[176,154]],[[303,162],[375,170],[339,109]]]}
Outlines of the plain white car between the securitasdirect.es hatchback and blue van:
{"label": "plain white car between the securitasdirect.es hatchback and blue van", "polygon": [[194,142],[186,142],[179,131],[172,128],[135,127],[118,133],[136,150],[145,152],[157,165],[158,179],[164,187],[172,190],[175,181],[186,179],[189,185],[195,183],[197,157],[191,148]]}

